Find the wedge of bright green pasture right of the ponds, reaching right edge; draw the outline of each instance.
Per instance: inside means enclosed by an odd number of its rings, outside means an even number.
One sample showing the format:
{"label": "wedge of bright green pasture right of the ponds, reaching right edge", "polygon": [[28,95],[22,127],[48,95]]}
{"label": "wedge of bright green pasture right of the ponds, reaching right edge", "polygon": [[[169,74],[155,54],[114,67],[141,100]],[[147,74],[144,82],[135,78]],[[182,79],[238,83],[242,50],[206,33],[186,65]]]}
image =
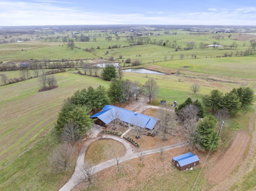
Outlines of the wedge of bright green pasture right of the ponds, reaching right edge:
{"label": "wedge of bright green pasture right of the ponds, reaching right edge", "polygon": [[[144,65],[143,65],[144,66]],[[205,58],[205,59],[182,59],[175,61],[165,61],[150,63],[147,67],[162,67],[160,71],[167,71],[170,69],[180,69],[181,73],[187,71],[195,72],[198,76],[216,75],[220,78],[232,77],[234,79],[241,79],[241,81],[252,81],[256,77],[254,71],[255,57],[224,57],[224,58]],[[231,80],[232,80],[231,78]],[[252,82],[253,83],[253,82]]]}

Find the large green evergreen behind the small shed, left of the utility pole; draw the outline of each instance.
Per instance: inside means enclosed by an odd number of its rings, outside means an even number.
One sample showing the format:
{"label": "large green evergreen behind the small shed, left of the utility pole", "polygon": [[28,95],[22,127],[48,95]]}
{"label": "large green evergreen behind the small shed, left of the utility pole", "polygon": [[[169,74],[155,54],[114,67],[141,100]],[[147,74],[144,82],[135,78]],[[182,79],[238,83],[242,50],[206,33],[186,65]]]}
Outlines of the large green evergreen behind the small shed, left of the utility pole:
{"label": "large green evergreen behind the small shed, left of the utility pole", "polygon": [[219,136],[215,131],[217,120],[214,116],[209,115],[204,117],[204,120],[198,123],[196,128],[196,143],[201,146],[203,150],[217,150]]}

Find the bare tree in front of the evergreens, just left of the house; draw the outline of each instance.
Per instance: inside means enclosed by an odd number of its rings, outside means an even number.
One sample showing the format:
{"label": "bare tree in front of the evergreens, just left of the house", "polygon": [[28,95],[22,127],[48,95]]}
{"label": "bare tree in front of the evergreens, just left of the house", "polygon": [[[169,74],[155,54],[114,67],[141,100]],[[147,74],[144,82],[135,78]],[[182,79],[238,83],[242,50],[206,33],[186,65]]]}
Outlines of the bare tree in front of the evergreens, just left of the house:
{"label": "bare tree in front of the evergreens, just left of the house", "polygon": [[78,140],[82,139],[82,134],[79,132],[79,126],[74,120],[68,121],[64,126],[61,134],[61,139],[63,142],[75,144]]}

